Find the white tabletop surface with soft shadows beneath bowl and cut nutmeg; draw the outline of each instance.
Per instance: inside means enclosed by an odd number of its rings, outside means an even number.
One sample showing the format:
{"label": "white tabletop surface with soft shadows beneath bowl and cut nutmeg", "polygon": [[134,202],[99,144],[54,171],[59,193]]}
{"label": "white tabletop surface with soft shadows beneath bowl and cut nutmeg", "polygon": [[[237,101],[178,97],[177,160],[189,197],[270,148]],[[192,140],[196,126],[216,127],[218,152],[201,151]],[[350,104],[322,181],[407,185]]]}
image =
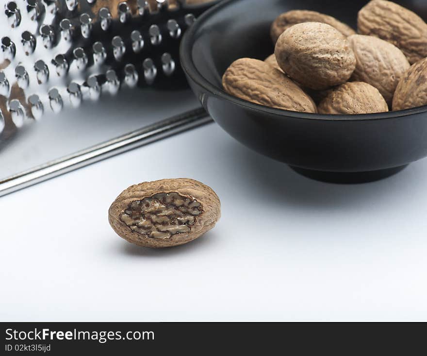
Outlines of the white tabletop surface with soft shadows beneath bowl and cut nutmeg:
{"label": "white tabletop surface with soft shadows beneath bowl and cut nutmeg", "polygon": [[[191,177],[217,226],[164,250],[115,235],[127,186]],[[212,124],[0,198],[1,320],[426,320],[427,161],[331,185]]]}

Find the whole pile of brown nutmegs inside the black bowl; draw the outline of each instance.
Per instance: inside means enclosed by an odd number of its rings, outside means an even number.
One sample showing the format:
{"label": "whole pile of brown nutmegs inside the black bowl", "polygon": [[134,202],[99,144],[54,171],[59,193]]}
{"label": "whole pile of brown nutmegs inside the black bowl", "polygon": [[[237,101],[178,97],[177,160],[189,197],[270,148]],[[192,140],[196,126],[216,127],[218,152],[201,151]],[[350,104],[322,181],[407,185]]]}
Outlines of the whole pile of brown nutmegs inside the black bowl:
{"label": "whole pile of brown nutmegs inside the black bowl", "polygon": [[367,114],[427,105],[427,23],[386,0],[358,14],[358,34],[308,10],[271,26],[274,54],[241,58],[223,76],[231,95],[285,110]]}

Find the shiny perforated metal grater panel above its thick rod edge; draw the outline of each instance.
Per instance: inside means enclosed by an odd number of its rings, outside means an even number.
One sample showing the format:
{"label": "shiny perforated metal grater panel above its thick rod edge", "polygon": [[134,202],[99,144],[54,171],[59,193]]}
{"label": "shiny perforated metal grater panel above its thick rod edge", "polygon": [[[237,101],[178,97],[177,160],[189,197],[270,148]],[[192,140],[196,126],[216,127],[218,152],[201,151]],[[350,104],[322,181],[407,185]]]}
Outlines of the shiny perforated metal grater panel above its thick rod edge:
{"label": "shiny perforated metal grater panel above its thick rod edge", "polygon": [[[40,127],[37,121],[46,117],[66,120],[87,113],[88,104],[101,114],[111,105],[111,96],[117,105],[127,105],[131,98],[153,102],[158,97],[169,104],[176,100],[163,117],[197,105],[185,89],[180,38],[217,1],[0,1],[4,9],[0,14],[0,178],[58,159],[60,155],[49,153],[45,160],[19,164],[19,149],[29,149],[22,141],[34,141],[32,127]],[[120,95],[120,88],[125,95]],[[189,105],[181,109],[186,101]],[[174,106],[177,110],[171,110]],[[149,112],[152,108],[141,110],[141,116]],[[122,120],[116,132],[125,134],[126,129]],[[94,137],[91,145],[112,138],[111,134]],[[58,146],[57,151],[71,154],[86,149],[88,142],[66,151]],[[43,151],[46,139],[39,145],[37,149]],[[15,155],[18,158],[11,160]]]}

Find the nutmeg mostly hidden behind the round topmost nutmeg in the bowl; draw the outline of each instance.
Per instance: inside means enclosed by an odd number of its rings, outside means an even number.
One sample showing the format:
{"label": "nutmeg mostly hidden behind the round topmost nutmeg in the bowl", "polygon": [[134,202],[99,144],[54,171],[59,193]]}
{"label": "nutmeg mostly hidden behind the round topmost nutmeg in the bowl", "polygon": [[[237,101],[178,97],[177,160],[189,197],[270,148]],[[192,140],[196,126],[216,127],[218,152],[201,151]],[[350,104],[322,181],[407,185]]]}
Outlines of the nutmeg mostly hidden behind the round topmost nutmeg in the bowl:
{"label": "nutmeg mostly hidden behind the round topmost nutmeg in the bowl", "polygon": [[337,20],[335,17],[321,14],[316,11],[291,10],[279,15],[271,24],[270,34],[273,43],[276,43],[279,36],[288,28],[302,22],[327,23],[345,36],[356,33],[350,26]]}

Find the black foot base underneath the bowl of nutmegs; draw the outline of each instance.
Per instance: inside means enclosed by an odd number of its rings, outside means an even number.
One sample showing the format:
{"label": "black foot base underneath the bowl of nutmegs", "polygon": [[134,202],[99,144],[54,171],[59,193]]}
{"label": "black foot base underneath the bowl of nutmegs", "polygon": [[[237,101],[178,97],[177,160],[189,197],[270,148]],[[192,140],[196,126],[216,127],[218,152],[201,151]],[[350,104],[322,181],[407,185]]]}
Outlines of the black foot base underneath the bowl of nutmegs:
{"label": "black foot base underneath the bowl of nutmegs", "polygon": [[304,168],[293,166],[290,167],[297,173],[316,181],[338,184],[360,184],[388,178],[401,170],[404,170],[408,165],[389,168],[387,170],[372,170],[368,172],[327,172],[321,170],[306,170]]}

